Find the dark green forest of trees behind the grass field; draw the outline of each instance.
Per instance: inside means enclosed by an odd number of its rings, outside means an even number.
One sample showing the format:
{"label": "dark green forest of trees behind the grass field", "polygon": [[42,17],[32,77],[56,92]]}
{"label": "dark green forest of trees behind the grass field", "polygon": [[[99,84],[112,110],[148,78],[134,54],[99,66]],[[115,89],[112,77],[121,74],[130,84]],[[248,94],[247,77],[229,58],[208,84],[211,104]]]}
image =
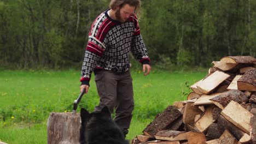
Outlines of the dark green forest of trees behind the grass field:
{"label": "dark green forest of trees behind the grass field", "polygon": [[[81,67],[88,33],[109,0],[1,0],[0,65]],[[142,0],[139,26],[157,68],[208,67],[256,51],[256,1]]]}

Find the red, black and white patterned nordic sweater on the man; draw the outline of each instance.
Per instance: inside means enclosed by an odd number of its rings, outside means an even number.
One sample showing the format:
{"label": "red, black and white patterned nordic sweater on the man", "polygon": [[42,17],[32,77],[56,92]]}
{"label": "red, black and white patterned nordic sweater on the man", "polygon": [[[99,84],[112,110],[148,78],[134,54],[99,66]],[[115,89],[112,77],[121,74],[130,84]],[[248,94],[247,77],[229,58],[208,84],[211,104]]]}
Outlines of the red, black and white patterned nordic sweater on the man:
{"label": "red, black and white patterned nordic sweater on the man", "polygon": [[91,73],[95,69],[118,73],[129,70],[130,52],[142,64],[150,61],[137,17],[131,15],[126,22],[120,23],[111,19],[107,11],[101,13],[92,23],[82,66],[82,85],[89,85]]}

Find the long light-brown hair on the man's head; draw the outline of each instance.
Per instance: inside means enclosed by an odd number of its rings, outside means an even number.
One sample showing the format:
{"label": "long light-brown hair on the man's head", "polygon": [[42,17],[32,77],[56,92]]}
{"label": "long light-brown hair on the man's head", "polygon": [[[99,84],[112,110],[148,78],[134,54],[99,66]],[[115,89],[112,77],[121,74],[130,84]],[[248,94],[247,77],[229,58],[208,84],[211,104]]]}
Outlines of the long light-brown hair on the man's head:
{"label": "long light-brown hair on the man's head", "polygon": [[117,7],[122,8],[125,4],[135,7],[135,14],[139,17],[139,13],[141,11],[141,0],[111,0],[109,8],[115,10]]}

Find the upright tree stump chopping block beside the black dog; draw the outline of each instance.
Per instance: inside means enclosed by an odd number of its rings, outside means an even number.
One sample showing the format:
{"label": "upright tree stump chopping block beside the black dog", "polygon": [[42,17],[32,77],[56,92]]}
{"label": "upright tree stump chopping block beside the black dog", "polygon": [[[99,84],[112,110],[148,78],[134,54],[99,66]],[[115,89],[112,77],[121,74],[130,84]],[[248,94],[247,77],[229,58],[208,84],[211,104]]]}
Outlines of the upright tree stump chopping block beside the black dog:
{"label": "upright tree stump chopping block beside the black dog", "polygon": [[47,122],[48,144],[79,143],[80,115],[52,112]]}

